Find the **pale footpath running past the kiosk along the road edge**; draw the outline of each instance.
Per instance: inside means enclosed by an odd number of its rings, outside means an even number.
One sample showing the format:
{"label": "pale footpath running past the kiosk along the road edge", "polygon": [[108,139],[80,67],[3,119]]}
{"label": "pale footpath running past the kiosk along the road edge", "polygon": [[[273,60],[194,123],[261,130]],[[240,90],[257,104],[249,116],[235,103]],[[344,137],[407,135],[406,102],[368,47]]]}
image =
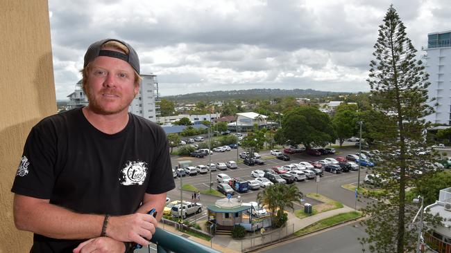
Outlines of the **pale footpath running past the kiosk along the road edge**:
{"label": "pale footpath running past the kiosk along the road edge", "polygon": [[[307,227],[308,225],[312,225],[313,223],[316,223],[317,221],[322,220],[323,218],[328,218],[337,214],[342,214],[346,212],[352,212],[355,211],[353,208],[344,206],[339,209],[330,210],[327,212],[322,212],[320,214],[316,214],[314,216],[309,216],[306,218],[298,218],[292,213],[288,213],[288,221],[287,221],[287,232],[284,232],[284,236],[293,234],[293,232],[298,231],[299,229],[303,229],[304,227]],[[201,238],[197,238],[196,236],[191,236],[189,234],[182,233],[178,231],[175,227],[172,227],[170,225],[164,225],[163,223],[160,223],[160,228],[171,232],[173,234],[177,234],[179,236],[182,236],[184,238],[188,238],[189,240],[195,241],[196,243],[201,243],[207,247],[212,247],[214,250],[218,250],[220,252],[242,252],[242,250],[248,249],[249,247],[246,247],[244,245],[244,242],[246,241],[246,238],[236,240],[232,238],[230,235],[216,235],[212,238],[212,241],[205,241]],[[251,236],[252,237],[252,236]],[[266,237],[266,238],[265,238]],[[253,238],[247,238],[248,242],[250,242],[250,245],[252,245],[253,250],[259,248],[259,245],[273,245],[275,243],[278,243],[280,241],[274,241],[273,243],[270,243],[269,235],[268,236],[254,236]],[[250,241],[249,241],[250,240]],[[246,243],[245,243],[246,244]],[[148,250],[145,248],[141,250],[135,250],[135,253],[144,253],[148,252]]]}

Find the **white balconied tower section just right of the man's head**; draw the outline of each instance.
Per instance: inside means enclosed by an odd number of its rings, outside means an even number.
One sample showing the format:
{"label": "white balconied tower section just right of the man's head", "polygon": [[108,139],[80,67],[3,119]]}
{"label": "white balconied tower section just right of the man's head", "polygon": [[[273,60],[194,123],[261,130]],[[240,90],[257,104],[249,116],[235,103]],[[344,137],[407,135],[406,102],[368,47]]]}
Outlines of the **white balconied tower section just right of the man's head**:
{"label": "white balconied tower section just right of the man's head", "polygon": [[139,93],[128,107],[128,111],[142,118],[157,122],[160,116],[160,97],[156,75],[141,75]]}

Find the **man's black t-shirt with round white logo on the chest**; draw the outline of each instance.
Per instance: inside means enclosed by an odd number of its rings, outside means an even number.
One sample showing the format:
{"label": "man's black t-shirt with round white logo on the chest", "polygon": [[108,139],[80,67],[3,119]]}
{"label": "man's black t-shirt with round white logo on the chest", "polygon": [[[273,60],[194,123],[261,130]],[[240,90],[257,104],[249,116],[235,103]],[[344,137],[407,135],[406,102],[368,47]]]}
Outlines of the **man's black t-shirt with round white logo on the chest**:
{"label": "man's black t-shirt with round white logo on the chest", "polygon": [[[133,214],[144,193],[170,191],[175,184],[166,134],[128,115],[126,127],[112,135],[93,127],[81,109],[44,118],[28,135],[11,191],[110,215]],[[82,241],[35,234],[31,252],[72,252]]]}

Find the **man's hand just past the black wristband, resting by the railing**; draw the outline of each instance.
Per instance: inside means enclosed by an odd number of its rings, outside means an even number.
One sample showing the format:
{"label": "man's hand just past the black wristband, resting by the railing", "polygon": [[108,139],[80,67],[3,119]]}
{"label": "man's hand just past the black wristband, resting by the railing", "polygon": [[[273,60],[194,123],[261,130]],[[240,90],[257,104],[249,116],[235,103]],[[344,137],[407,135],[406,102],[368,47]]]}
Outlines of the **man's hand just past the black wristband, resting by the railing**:
{"label": "man's hand just past the black wristband, resting by the railing", "polygon": [[133,241],[147,246],[157,226],[157,221],[150,214],[111,216],[106,234],[117,241]]}

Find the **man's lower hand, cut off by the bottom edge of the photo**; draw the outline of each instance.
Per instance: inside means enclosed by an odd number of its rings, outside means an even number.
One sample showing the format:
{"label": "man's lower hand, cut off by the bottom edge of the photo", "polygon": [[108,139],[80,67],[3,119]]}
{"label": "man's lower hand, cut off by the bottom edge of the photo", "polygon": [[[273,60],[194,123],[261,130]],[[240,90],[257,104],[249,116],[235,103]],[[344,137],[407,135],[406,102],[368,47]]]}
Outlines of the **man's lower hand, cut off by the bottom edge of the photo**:
{"label": "man's lower hand, cut off by the bottom edge of the photo", "polygon": [[92,238],[80,243],[72,252],[74,253],[124,253],[126,246],[121,241],[116,241],[109,237]]}

